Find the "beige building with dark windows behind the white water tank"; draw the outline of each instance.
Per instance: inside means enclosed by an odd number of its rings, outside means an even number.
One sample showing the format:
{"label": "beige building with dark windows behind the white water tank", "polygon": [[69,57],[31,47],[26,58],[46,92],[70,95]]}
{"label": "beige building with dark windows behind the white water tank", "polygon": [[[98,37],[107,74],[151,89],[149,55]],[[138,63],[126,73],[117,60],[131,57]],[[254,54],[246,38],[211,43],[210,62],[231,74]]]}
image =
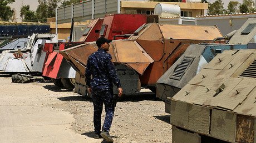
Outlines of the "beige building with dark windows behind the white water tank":
{"label": "beige building with dark windows behind the white water tank", "polygon": [[[159,2],[145,1],[121,1],[121,13],[145,13],[153,14],[156,4]],[[181,9],[181,17],[203,16],[204,10],[208,9],[208,3],[183,3],[183,2],[160,2],[177,4]]]}

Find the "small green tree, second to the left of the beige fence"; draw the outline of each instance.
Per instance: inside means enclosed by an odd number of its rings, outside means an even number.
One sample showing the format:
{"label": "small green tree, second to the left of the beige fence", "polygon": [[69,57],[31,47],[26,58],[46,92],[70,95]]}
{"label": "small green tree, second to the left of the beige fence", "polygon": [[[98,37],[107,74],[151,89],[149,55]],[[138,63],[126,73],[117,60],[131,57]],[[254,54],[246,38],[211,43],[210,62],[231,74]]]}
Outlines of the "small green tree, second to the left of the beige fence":
{"label": "small green tree, second to the left of the beige fence", "polygon": [[21,11],[19,11],[19,16],[21,17],[22,22],[35,22],[37,17],[34,11],[29,10],[29,5],[22,6]]}

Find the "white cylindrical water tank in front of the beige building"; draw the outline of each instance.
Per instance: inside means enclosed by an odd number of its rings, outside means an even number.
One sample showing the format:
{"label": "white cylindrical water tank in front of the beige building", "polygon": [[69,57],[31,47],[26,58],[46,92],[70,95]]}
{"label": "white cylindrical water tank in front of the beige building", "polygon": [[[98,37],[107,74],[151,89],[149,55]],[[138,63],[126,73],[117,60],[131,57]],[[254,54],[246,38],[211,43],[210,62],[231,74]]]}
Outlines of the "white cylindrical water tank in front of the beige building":
{"label": "white cylindrical water tank in front of the beige building", "polygon": [[154,14],[158,15],[160,18],[179,17],[180,6],[176,4],[157,3],[154,9]]}

